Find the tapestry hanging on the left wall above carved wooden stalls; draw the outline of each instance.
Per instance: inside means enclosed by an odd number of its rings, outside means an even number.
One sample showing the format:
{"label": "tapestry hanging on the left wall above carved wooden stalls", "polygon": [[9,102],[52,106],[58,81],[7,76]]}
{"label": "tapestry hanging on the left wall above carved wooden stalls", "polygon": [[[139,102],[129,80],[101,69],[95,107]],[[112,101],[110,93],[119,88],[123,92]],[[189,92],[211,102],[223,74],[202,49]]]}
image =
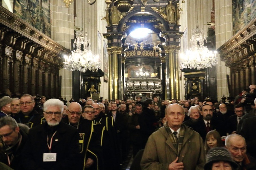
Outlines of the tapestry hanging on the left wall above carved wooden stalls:
{"label": "tapestry hanging on the left wall above carved wooden stalls", "polygon": [[13,13],[51,37],[49,0],[14,0]]}

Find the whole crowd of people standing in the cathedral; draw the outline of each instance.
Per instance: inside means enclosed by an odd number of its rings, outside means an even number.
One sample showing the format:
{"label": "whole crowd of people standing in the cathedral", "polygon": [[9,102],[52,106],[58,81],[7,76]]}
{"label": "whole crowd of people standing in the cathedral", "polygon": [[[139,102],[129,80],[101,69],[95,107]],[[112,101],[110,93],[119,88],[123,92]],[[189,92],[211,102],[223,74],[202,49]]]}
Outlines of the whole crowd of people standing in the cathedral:
{"label": "whole crowd of people standing in the cathedral", "polygon": [[[255,85],[226,103],[0,99],[0,169],[256,169]],[[246,95],[247,97],[246,97]],[[251,99],[250,99],[251,100]]]}

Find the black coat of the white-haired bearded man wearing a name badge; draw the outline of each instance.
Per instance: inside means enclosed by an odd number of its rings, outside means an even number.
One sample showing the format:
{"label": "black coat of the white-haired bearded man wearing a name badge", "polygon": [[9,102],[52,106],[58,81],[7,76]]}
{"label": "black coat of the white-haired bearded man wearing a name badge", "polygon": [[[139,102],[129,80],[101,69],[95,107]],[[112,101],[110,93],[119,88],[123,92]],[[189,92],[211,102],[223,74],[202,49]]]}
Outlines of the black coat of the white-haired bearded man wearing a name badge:
{"label": "black coat of the white-haired bearded man wearing a name badge", "polygon": [[47,133],[49,126],[45,122],[29,130],[28,140],[23,149],[22,161],[26,170],[70,170],[81,163],[79,157],[78,130],[62,121],[54,127],[57,132],[52,140],[52,153],[57,153],[56,162],[43,162],[43,154],[49,153]]}

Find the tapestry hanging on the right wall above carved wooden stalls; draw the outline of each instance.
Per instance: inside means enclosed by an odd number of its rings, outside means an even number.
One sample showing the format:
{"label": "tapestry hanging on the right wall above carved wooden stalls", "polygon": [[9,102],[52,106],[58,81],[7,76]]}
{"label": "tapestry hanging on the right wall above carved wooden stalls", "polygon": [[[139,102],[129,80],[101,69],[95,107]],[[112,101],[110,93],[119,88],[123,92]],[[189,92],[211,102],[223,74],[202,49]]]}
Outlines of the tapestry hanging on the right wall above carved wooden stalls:
{"label": "tapestry hanging on the right wall above carved wooden stalls", "polygon": [[256,0],[232,0],[233,34],[256,17]]}

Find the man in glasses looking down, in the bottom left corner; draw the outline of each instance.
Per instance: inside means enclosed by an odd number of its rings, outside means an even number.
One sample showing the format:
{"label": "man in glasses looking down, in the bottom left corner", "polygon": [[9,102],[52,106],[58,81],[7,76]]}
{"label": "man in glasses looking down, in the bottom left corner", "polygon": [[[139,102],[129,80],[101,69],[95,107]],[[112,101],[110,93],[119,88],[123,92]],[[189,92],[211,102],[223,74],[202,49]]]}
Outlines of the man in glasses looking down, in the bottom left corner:
{"label": "man in glasses looking down, in the bottom left corner", "polygon": [[27,141],[28,130],[26,125],[17,124],[10,116],[0,118],[0,162],[15,170],[23,169],[21,152]]}

